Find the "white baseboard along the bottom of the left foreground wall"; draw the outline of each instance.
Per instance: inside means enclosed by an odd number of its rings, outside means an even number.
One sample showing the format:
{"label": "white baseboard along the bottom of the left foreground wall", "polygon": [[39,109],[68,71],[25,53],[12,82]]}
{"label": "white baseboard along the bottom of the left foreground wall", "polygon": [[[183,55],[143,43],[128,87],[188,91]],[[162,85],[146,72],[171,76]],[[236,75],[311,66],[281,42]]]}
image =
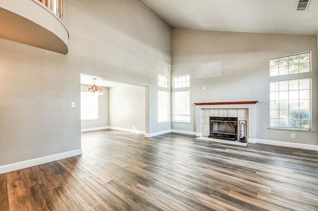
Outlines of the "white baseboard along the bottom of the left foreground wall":
{"label": "white baseboard along the bottom of the left foreground wall", "polygon": [[45,156],[45,157],[41,157],[41,158],[34,158],[34,159],[24,160],[21,162],[15,162],[15,163],[7,164],[7,165],[2,165],[2,166],[0,166],[0,174],[7,173],[10,171],[19,170],[22,168],[35,166],[35,165],[40,165],[40,164],[47,163],[47,162],[56,161],[59,159],[70,158],[70,157],[78,156],[81,154],[82,154],[81,149],[79,149],[79,150],[73,150],[73,151],[69,151],[69,152],[65,152],[65,153],[59,153],[59,154],[55,154],[55,155]]}

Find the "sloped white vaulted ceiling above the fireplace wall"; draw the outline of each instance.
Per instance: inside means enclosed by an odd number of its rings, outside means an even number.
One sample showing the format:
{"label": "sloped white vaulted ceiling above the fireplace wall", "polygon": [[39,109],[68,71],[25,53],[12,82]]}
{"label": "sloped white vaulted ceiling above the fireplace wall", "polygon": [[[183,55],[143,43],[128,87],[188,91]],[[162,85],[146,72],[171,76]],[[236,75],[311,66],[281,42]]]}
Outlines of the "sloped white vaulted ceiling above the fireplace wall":
{"label": "sloped white vaulted ceiling above the fireplace wall", "polygon": [[139,0],[171,28],[318,35],[318,0]]}

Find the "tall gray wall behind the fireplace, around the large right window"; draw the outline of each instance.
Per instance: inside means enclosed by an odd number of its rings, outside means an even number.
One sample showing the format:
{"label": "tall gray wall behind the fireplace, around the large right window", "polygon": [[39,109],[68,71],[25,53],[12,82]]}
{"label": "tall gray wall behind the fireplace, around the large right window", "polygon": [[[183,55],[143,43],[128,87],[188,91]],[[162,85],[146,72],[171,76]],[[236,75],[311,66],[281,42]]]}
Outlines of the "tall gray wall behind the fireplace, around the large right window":
{"label": "tall gray wall behind the fireplace, around the large right window", "polygon": [[[269,59],[312,52],[312,72],[302,73],[313,83],[313,133],[268,130]],[[213,63],[216,62],[216,63]],[[219,63],[221,62],[221,69]],[[191,123],[172,123],[172,129],[196,131],[195,105],[202,102],[259,101],[256,104],[256,138],[318,145],[317,37],[258,33],[172,29],[172,77],[190,73]],[[198,70],[213,69],[200,78]],[[277,76],[275,80],[295,75]],[[203,90],[206,87],[206,90]]]}

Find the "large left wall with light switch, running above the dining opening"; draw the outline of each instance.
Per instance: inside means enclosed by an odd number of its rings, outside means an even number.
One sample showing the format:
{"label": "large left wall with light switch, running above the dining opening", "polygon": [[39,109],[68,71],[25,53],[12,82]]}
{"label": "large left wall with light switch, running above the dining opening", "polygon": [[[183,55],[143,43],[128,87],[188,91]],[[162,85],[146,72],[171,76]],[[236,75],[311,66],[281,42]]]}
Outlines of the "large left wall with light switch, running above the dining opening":
{"label": "large left wall with light switch, running above the dining opening", "polygon": [[65,11],[67,55],[0,39],[0,165],[80,149],[80,73],[148,86],[146,132],[162,130],[154,96],[157,74],[170,75],[170,28],[134,0]]}

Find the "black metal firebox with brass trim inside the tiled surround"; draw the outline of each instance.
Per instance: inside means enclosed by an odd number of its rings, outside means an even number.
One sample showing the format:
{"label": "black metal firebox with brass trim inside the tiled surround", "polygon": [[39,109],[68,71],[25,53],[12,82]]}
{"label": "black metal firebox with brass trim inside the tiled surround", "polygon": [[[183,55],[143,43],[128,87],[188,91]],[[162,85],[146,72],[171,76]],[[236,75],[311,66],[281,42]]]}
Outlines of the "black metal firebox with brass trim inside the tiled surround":
{"label": "black metal firebox with brass trim inside the tiled surround", "polygon": [[210,138],[238,140],[238,118],[210,116]]}

